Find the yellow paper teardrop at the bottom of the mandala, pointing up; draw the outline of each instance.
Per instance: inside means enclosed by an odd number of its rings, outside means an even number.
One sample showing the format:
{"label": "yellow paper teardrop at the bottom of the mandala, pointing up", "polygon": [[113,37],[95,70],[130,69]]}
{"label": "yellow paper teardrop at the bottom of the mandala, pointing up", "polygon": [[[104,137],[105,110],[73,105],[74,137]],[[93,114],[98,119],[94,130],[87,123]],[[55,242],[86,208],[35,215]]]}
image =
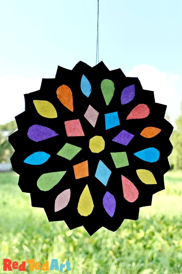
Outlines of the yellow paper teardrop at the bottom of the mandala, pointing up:
{"label": "yellow paper teardrop at the bottom of the mandala, pointing up", "polygon": [[88,185],[83,189],[83,192],[78,202],[78,213],[81,216],[88,216],[92,213],[94,208],[92,196],[89,191]]}

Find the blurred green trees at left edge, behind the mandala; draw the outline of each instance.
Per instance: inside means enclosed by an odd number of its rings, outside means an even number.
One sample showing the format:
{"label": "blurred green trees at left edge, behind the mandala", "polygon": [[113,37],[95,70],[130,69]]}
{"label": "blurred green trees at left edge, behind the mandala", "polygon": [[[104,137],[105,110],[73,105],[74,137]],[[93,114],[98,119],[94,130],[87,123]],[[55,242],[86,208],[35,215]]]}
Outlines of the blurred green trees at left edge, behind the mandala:
{"label": "blurred green trees at left edge, behind the mandala", "polygon": [[10,161],[14,149],[8,142],[8,136],[15,132],[17,125],[15,121],[0,125],[0,163]]}

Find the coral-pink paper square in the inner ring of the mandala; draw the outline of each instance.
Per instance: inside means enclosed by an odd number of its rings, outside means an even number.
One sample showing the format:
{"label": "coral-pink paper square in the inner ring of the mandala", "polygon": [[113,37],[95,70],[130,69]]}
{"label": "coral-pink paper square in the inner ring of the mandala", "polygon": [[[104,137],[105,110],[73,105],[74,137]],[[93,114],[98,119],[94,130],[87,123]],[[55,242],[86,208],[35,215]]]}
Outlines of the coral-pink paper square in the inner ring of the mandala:
{"label": "coral-pink paper square in the inner ring of the mandala", "polygon": [[79,119],[65,121],[65,128],[68,137],[85,136]]}

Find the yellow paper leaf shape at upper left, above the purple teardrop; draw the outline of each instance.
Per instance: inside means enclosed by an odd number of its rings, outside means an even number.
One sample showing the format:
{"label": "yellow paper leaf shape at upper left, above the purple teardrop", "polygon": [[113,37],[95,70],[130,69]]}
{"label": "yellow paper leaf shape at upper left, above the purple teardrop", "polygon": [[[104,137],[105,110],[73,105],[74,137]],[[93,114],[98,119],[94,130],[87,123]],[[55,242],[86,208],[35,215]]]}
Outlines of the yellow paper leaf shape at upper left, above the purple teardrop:
{"label": "yellow paper leaf shape at upper left, above the purple teardrop", "polygon": [[55,107],[48,101],[33,100],[37,112],[46,118],[56,118],[57,112]]}

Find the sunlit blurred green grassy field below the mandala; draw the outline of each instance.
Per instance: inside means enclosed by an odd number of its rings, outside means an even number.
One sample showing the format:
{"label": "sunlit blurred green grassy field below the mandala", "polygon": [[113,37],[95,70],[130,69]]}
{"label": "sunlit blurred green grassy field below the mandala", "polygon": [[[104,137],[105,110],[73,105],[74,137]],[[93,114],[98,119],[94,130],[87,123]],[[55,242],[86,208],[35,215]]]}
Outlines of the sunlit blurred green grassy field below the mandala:
{"label": "sunlit blurred green grassy field below the mandala", "polygon": [[70,231],[64,222],[49,223],[17,183],[14,172],[0,173],[0,273],[3,258],[68,260],[72,270],[63,272],[72,274],[182,273],[182,172],[167,173],[166,189],[140,209],[139,220],[125,220],[115,233],[102,228],[92,237],[83,227]]}

